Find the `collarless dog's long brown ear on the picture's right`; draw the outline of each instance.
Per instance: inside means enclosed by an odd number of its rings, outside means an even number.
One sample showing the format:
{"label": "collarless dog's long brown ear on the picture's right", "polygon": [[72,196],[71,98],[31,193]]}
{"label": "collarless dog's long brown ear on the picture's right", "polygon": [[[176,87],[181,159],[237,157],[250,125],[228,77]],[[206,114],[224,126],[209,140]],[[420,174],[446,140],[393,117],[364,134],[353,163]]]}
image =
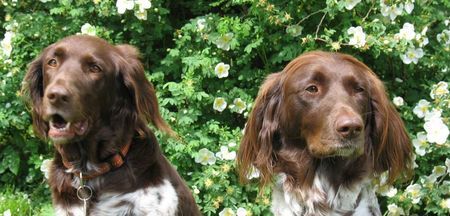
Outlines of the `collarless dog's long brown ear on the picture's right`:
{"label": "collarless dog's long brown ear on the picture's right", "polygon": [[374,169],[389,171],[388,182],[393,183],[402,173],[410,174],[412,146],[400,115],[392,105],[383,83],[369,70],[372,108],[371,140],[374,150]]}

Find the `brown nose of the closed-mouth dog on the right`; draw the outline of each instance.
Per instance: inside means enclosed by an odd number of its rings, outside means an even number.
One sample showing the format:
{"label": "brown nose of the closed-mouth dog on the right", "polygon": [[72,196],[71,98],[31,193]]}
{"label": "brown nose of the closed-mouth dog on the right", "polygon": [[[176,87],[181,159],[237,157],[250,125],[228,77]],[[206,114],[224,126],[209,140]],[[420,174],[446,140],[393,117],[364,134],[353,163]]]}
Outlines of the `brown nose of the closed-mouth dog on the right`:
{"label": "brown nose of the closed-mouth dog on the right", "polygon": [[343,138],[353,138],[363,130],[363,122],[357,115],[340,115],[336,120],[335,128]]}

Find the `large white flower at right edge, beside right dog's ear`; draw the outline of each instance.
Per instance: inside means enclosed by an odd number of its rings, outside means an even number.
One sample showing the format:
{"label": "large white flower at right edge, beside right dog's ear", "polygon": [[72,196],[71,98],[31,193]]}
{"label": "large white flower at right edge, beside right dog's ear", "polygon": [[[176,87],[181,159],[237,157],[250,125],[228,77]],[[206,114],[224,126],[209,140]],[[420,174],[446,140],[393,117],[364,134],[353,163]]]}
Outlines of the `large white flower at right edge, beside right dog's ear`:
{"label": "large white flower at right edge, beside right dog's ear", "polygon": [[430,143],[444,144],[447,141],[449,130],[441,118],[432,118],[423,125]]}

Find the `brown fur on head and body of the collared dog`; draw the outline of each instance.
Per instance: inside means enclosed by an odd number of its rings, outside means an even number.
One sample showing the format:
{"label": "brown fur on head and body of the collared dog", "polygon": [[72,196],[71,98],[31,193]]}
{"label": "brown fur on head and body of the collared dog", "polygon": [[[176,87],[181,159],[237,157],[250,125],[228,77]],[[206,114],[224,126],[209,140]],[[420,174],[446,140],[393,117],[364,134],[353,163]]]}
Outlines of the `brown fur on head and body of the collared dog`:
{"label": "brown fur on head and body of the collared dog", "polygon": [[[56,60],[56,66],[51,59]],[[101,71],[92,69],[92,64],[98,64]],[[51,138],[48,119],[55,113],[69,122],[89,122],[82,136],[55,144],[49,179],[54,204],[80,203],[72,186],[73,173],[66,172],[63,159],[76,170],[86,171],[88,162],[95,166],[132,142],[121,167],[93,180],[97,183],[92,183],[95,194],[90,205],[95,205],[101,193],[132,192],[168,179],[178,194],[178,215],[200,215],[189,189],[147,126],[151,123],[174,135],[160,116],[155,89],[145,77],[134,47],[113,46],[91,36],[70,36],[45,48],[29,65],[24,81],[33,126],[41,138]],[[50,101],[55,88],[67,91],[64,100]]]}

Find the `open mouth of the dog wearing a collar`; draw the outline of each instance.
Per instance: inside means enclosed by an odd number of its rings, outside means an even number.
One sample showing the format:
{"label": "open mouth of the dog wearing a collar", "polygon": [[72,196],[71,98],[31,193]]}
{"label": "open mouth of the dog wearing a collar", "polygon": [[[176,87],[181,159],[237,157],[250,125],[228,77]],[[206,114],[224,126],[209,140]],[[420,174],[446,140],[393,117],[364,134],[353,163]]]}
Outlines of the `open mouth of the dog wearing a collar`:
{"label": "open mouth of the dog wearing a collar", "polygon": [[88,128],[88,121],[67,122],[62,116],[55,114],[49,121],[48,136],[53,140],[68,140],[75,136],[82,136]]}

